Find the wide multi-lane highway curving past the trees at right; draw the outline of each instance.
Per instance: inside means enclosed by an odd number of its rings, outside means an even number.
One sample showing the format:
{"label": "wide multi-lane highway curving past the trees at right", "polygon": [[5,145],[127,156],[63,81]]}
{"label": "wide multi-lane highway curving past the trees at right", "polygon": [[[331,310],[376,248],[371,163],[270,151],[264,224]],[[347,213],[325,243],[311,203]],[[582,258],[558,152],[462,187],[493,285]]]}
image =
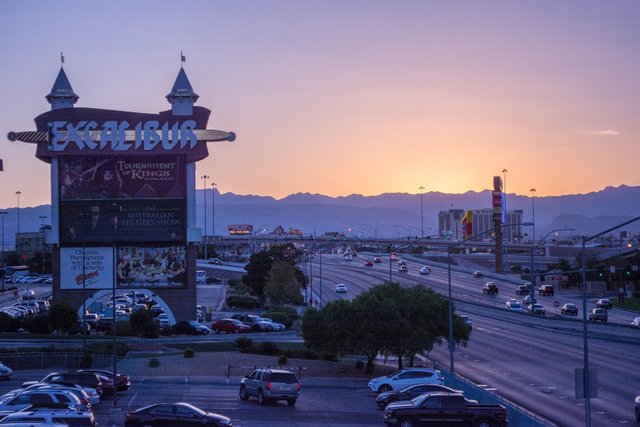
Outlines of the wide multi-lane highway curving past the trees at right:
{"label": "wide multi-lane highway curving past the trees at right", "polygon": [[[353,298],[369,287],[389,279],[389,259],[364,266],[373,255],[359,254],[351,262],[338,255],[323,255],[322,286],[324,302]],[[430,275],[419,275],[418,263],[407,260],[408,273],[392,272],[394,281],[410,286],[423,283],[437,292],[447,293],[447,269],[434,267]],[[319,295],[319,257],[313,260],[314,294]],[[429,264],[429,263],[426,263]],[[395,266],[394,266],[395,269]],[[500,288],[499,296],[483,295],[485,281]],[[335,283],[348,286],[346,294],[335,293]],[[455,351],[455,371],[482,384],[532,412],[558,425],[583,425],[584,400],[575,398],[574,370],[583,367],[582,304],[576,291],[557,292],[554,297],[537,296],[547,309],[544,318],[504,309],[506,300],[515,297],[515,284],[503,280],[473,278],[469,273],[452,271],[452,295],[457,312],[468,314],[473,331],[467,347]],[[555,316],[554,299],[574,302],[580,316]],[[589,299],[588,307],[594,307]],[[598,397],[591,399],[594,426],[635,423],[633,399],[640,393],[637,355],[640,331],[626,327],[634,313],[614,308],[612,324],[589,323],[590,368],[598,375]],[[615,323],[618,323],[616,325]],[[429,359],[449,367],[446,342],[429,354]]]}

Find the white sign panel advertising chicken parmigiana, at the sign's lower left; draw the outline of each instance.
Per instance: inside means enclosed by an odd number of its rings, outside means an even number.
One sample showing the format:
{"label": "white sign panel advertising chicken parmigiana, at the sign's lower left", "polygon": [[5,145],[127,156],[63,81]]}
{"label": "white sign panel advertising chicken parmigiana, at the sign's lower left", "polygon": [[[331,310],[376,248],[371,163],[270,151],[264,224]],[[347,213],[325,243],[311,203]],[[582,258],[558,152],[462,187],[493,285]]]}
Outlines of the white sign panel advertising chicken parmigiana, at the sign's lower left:
{"label": "white sign panel advertising chicken parmigiana, at the sign's lower left", "polygon": [[112,248],[60,248],[60,289],[112,287]]}

